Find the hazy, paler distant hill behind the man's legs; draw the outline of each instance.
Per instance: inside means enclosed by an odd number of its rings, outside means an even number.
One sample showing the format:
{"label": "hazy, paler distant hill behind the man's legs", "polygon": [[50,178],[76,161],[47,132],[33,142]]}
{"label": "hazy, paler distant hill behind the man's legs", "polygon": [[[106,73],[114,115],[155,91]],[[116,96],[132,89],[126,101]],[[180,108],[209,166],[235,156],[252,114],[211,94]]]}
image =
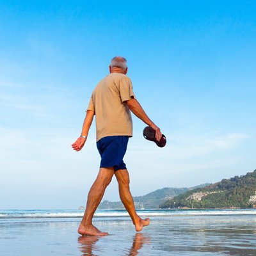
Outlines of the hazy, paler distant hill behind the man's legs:
{"label": "hazy, paler distant hill behind the man's legs", "polygon": [[[195,188],[202,188],[208,184],[202,184],[192,188],[162,188],[157,189],[154,192],[148,193],[144,196],[134,196],[134,205],[136,209],[156,209],[160,204],[163,204],[166,200],[173,198],[174,196],[180,195]],[[103,201],[99,205],[99,209],[124,209],[124,205],[121,201],[109,202],[107,200]]]}

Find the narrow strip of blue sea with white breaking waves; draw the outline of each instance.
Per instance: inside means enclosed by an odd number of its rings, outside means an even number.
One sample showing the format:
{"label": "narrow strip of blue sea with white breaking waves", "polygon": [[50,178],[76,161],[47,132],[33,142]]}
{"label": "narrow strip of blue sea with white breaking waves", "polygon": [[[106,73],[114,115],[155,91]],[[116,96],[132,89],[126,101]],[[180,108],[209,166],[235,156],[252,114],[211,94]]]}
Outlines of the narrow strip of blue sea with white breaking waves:
{"label": "narrow strip of blue sea with white breaking waves", "polygon": [[[142,217],[164,216],[214,216],[214,215],[256,215],[256,209],[211,209],[211,210],[139,210]],[[124,210],[96,211],[95,218],[127,217]],[[34,218],[81,218],[83,211],[78,210],[5,210],[0,211],[0,219]]]}

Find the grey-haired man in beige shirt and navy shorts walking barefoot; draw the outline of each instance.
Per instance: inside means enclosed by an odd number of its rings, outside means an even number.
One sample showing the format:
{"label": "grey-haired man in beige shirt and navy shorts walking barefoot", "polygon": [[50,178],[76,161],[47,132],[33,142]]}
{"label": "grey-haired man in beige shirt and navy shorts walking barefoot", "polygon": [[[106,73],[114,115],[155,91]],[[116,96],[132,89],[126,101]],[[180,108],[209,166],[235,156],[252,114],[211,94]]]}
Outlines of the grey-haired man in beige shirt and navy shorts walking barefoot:
{"label": "grey-haired man in beige shirt and navy shorts walking barefoot", "polygon": [[157,141],[161,139],[162,134],[136,100],[131,79],[126,76],[127,70],[125,58],[115,57],[111,60],[110,74],[104,77],[93,91],[81,136],[72,144],[76,151],[83,148],[95,115],[97,148],[101,157],[100,170],[88,193],[86,209],[78,228],[81,235],[108,235],[93,226],[92,218],[113,175],[118,181],[120,199],[131,216],[136,231],[141,231],[144,226],[149,225],[149,219],[141,219],[135,210],[129,188],[129,173],[123,161],[129,137],[132,137],[131,111],[156,131]]}

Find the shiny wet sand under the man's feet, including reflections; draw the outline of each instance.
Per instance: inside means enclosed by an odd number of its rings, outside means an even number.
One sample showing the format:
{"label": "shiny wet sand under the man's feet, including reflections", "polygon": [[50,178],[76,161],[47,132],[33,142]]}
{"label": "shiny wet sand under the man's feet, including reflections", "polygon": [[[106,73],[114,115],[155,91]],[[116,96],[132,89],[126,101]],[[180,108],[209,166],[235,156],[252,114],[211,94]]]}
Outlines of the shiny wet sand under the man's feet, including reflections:
{"label": "shiny wet sand under the man's feet, including reflections", "polygon": [[79,221],[1,220],[0,255],[256,255],[255,216],[154,217],[139,233],[129,218],[95,218],[104,237],[80,236]]}

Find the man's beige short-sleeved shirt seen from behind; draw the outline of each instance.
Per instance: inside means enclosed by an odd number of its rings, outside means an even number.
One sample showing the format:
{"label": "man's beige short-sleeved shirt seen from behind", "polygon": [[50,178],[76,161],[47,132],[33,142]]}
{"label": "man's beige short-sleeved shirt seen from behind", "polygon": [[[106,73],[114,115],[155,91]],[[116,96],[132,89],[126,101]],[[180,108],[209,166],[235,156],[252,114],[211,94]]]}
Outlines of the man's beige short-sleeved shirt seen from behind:
{"label": "man's beige short-sleeved shirt seen from behind", "polygon": [[106,136],[132,136],[131,111],[124,103],[132,98],[132,82],[124,74],[111,73],[99,82],[87,109],[96,117],[97,141]]}

